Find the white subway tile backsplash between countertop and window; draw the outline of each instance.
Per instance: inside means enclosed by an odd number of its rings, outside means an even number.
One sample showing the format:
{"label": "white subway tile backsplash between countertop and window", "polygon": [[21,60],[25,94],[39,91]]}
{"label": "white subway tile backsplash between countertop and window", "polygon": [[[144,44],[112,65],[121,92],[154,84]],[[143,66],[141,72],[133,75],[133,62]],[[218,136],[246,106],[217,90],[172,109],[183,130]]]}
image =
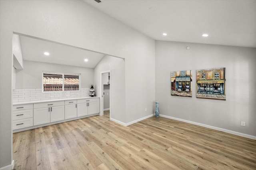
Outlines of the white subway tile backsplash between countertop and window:
{"label": "white subway tile backsplash between countertop and window", "polygon": [[25,102],[36,100],[53,100],[63,98],[90,97],[90,88],[81,88],[81,91],[44,92],[42,89],[15,89],[12,92],[12,102]]}

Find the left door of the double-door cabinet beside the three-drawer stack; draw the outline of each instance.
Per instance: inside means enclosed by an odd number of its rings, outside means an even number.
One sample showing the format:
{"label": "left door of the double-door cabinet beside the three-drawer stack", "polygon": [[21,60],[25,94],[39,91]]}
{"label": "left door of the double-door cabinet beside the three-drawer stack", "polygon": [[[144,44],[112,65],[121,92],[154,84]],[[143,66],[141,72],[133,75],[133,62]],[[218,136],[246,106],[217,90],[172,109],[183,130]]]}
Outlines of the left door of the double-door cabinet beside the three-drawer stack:
{"label": "left door of the double-door cabinet beside the three-drawer stack", "polygon": [[50,123],[50,107],[34,109],[34,126]]}

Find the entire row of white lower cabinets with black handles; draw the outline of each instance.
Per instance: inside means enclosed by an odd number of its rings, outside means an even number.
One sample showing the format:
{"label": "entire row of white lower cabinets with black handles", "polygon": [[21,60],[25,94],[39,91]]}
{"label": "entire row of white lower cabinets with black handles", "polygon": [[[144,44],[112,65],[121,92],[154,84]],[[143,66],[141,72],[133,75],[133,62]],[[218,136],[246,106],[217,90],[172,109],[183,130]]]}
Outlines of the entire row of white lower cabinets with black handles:
{"label": "entire row of white lower cabinets with black handles", "polygon": [[100,98],[14,105],[12,110],[12,129],[17,132],[28,129],[26,127],[31,129],[36,125],[100,113]]}

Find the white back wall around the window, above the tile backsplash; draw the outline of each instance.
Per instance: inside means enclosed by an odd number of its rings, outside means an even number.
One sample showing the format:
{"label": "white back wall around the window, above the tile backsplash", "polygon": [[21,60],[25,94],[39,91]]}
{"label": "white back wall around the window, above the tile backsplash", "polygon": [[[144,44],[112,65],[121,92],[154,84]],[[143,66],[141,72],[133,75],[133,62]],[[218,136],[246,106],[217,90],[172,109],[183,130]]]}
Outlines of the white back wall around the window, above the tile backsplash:
{"label": "white back wall around the window, above the tile backsplash", "polygon": [[62,64],[23,61],[23,70],[16,70],[16,89],[41,88],[42,71],[81,74],[81,87],[90,88],[93,84],[93,68]]}

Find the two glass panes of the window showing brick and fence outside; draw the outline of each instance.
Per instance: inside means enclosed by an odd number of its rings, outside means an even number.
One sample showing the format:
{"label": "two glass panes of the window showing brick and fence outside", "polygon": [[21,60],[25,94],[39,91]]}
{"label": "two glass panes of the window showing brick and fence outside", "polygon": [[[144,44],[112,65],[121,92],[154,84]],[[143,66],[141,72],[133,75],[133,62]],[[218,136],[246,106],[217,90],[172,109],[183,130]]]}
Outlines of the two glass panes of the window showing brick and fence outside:
{"label": "two glass panes of the window showing brick and fence outside", "polygon": [[79,90],[80,74],[43,72],[43,92]]}

